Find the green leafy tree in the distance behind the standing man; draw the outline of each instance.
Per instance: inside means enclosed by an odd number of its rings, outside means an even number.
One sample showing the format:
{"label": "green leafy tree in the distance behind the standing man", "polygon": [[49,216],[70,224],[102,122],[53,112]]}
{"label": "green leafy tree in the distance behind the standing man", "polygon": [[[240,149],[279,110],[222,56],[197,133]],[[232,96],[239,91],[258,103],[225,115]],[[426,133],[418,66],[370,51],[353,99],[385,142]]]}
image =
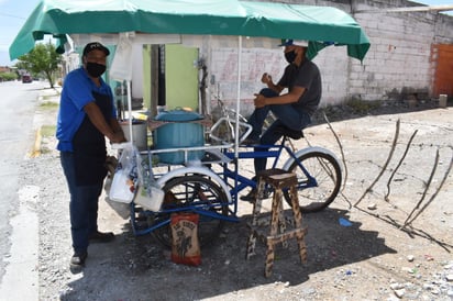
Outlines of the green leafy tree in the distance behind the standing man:
{"label": "green leafy tree in the distance behind the standing man", "polygon": [[15,66],[34,76],[44,74],[51,88],[54,88],[55,74],[59,70],[60,63],[62,55],[57,54],[55,45],[49,41],[46,44],[36,44],[30,53],[20,56]]}

